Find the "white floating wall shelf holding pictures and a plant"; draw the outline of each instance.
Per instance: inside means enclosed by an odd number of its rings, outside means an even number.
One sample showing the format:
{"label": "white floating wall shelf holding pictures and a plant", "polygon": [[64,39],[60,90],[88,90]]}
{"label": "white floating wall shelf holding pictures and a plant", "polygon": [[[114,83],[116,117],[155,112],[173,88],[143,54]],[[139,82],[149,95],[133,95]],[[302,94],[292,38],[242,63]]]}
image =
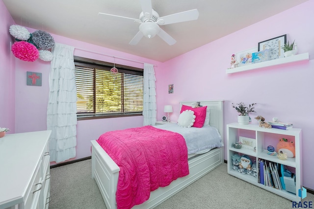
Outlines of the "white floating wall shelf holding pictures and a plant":
{"label": "white floating wall shelf holding pictures and a plant", "polygon": [[269,60],[269,61],[265,61],[261,63],[240,66],[237,68],[231,68],[231,69],[227,69],[226,73],[231,74],[231,73],[236,73],[236,72],[255,70],[255,69],[266,68],[270,66],[284,65],[288,63],[301,62],[301,61],[306,61],[306,60],[309,60],[309,53],[297,54],[290,57],[284,57],[284,58]]}

